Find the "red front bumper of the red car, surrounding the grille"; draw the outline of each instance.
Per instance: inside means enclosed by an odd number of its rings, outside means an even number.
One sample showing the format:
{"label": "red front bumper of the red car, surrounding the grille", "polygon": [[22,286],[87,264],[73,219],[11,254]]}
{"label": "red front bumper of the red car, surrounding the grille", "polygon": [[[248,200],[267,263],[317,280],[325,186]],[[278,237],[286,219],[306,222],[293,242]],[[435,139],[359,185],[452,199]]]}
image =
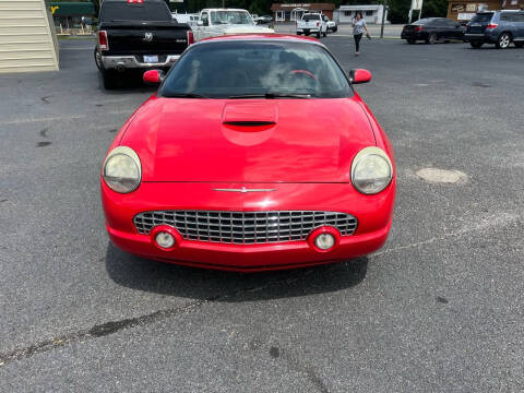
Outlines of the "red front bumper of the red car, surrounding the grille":
{"label": "red front bumper of the red car, surrounding the grille", "polygon": [[[103,181],[106,228],[111,241],[132,254],[169,263],[241,272],[346,261],[381,248],[390,231],[394,181],[377,195],[359,194],[347,183],[249,184],[249,188],[276,189],[274,192],[260,193],[213,190],[238,187],[224,183],[151,182],[142,183],[130,194],[118,194]],[[343,236],[340,243],[327,252],[317,251],[308,241],[233,245],[182,240],[174,249],[163,250],[155,246],[153,236],[140,235],[133,224],[133,217],[145,211],[210,207],[217,211],[336,211],[355,215],[359,224],[354,235]]]}

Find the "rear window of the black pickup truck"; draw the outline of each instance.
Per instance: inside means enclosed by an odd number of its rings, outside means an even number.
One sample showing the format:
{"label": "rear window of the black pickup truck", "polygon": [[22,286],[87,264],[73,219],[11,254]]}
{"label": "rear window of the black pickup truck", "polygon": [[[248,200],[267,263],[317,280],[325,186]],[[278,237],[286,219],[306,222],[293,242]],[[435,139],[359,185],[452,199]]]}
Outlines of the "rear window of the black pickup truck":
{"label": "rear window of the black pickup truck", "polygon": [[107,2],[102,7],[100,21],[171,21],[172,15],[165,2]]}

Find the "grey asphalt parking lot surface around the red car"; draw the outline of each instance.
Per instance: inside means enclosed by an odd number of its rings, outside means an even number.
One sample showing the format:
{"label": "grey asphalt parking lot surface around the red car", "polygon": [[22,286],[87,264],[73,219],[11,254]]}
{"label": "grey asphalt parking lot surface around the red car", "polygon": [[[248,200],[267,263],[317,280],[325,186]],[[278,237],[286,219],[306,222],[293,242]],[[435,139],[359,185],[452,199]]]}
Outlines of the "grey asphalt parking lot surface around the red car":
{"label": "grey asphalt parking lot surface around the red car", "polygon": [[395,148],[395,218],[379,252],[288,272],[109,245],[102,160],[154,90],[104,91],[93,41],[0,75],[0,391],[524,390],[524,49],[322,41],[373,73],[356,90]]}

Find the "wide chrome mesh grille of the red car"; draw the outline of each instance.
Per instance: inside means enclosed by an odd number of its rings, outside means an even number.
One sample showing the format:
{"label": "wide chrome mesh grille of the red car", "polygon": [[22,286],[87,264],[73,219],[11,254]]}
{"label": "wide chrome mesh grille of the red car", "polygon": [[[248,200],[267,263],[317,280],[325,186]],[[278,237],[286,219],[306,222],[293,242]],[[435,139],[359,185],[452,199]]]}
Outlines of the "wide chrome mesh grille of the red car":
{"label": "wide chrome mesh grille of the red car", "polygon": [[134,216],[139,234],[148,235],[157,225],[177,228],[184,240],[253,245],[306,240],[311,230],[324,225],[349,236],[357,228],[357,218],[346,213],[302,211],[155,211]]}

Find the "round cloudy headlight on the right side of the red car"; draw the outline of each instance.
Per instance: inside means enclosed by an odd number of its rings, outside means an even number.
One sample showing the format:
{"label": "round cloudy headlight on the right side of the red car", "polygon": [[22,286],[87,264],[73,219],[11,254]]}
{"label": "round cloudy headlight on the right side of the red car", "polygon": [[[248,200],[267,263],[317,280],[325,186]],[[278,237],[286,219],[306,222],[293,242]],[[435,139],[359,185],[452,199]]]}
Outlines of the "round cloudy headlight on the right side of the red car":
{"label": "round cloudy headlight on the right side of the red car", "polygon": [[362,148],[352,165],[352,182],[365,194],[376,194],[388,187],[393,167],[388,154],[379,147]]}

